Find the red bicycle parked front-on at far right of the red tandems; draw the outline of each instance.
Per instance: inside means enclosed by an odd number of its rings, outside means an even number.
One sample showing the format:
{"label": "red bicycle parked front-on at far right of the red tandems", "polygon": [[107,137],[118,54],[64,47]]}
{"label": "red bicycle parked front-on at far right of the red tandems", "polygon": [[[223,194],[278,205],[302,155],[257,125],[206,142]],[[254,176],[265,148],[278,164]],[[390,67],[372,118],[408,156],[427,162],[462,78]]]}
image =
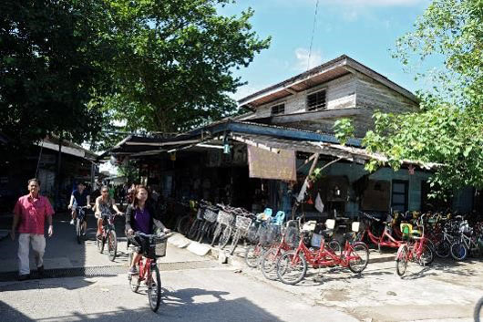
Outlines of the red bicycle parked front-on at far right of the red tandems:
{"label": "red bicycle parked front-on at far right of the red tandems", "polygon": [[[408,223],[401,224],[401,231],[410,239],[407,243],[401,244],[397,249],[396,254],[396,273],[403,276],[406,273],[407,263],[409,261],[418,261],[419,265],[429,265],[434,260],[434,254],[431,248],[427,245],[427,238],[425,236],[425,224],[423,214],[420,218],[419,230],[413,230]],[[403,227],[405,225],[405,227]]]}

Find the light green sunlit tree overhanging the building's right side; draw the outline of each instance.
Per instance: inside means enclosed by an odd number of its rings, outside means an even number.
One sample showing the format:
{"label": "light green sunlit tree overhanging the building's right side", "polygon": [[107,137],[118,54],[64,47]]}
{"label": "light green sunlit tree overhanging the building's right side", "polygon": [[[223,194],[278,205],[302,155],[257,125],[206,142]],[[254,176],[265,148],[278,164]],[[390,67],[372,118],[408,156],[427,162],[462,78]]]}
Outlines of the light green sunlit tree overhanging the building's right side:
{"label": "light green sunlit tree overhanging the building's right side", "polygon": [[483,1],[435,0],[415,30],[397,39],[395,57],[406,66],[434,56],[443,57],[443,68],[434,90],[418,93],[420,111],[375,113],[365,146],[395,169],[404,159],[444,164],[431,182],[441,191],[483,188]]}

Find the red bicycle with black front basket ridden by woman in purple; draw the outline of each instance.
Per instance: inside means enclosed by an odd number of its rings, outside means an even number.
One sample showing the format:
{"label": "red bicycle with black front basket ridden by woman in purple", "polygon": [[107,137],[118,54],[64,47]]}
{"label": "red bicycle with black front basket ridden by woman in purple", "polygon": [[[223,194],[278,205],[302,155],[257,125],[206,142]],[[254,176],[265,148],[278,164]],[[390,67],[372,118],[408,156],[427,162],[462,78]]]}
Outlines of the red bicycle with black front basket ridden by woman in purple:
{"label": "red bicycle with black front basket ridden by woman in purple", "polygon": [[[144,250],[137,264],[139,275],[128,275],[131,291],[137,293],[141,282],[148,287],[148,299],[151,310],[157,312],[161,302],[161,275],[156,260],[166,255],[166,246],[171,234],[143,234],[134,233],[135,236],[148,240],[149,247]],[[133,252],[129,252],[129,263],[132,263]]]}

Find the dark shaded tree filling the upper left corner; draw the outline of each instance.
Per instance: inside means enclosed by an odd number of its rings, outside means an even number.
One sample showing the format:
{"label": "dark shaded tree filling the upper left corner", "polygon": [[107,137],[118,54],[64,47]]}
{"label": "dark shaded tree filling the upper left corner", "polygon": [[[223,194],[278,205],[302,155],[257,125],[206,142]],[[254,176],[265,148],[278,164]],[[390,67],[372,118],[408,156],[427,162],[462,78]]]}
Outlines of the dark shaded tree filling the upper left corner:
{"label": "dark shaded tree filling the upper left corner", "polygon": [[0,131],[16,145],[57,134],[77,142],[100,131],[109,92],[98,37],[105,5],[94,0],[0,2]]}

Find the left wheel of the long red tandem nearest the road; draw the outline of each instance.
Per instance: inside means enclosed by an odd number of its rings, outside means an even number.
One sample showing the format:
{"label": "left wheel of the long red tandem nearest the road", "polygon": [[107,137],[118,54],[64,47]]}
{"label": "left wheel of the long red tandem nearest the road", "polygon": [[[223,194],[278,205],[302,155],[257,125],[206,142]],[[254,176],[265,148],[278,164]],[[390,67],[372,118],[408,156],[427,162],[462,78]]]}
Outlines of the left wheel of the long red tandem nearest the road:
{"label": "left wheel of the long red tandem nearest the road", "polygon": [[307,274],[307,261],[303,254],[288,252],[277,261],[277,276],[283,284],[294,285],[299,283]]}

